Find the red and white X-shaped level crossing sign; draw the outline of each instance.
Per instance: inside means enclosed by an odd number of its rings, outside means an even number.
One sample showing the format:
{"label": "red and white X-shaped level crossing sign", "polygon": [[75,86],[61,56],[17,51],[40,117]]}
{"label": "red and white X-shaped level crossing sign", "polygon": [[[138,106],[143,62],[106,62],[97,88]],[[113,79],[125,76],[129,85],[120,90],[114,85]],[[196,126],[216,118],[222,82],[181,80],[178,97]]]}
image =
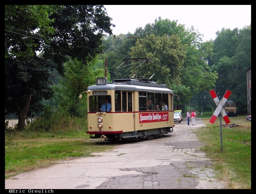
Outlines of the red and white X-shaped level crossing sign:
{"label": "red and white X-shaped level crossing sign", "polygon": [[228,99],[228,97],[230,96],[231,93],[232,93],[231,91],[227,90],[226,93],[224,94],[223,98],[221,100],[219,100],[219,98],[218,98],[216,92],[214,91],[214,89],[212,89],[210,91],[212,99],[213,99],[213,101],[215,102],[215,104],[217,106],[213,115],[212,115],[212,117],[211,117],[211,119],[210,119],[210,121],[209,121],[210,123],[214,124],[215,120],[217,119],[217,117],[220,113],[221,113],[225,123],[226,124],[230,123],[228,115],[227,115],[226,111],[224,110],[223,106],[225,105],[225,103],[226,103],[226,101],[227,101],[227,99]]}

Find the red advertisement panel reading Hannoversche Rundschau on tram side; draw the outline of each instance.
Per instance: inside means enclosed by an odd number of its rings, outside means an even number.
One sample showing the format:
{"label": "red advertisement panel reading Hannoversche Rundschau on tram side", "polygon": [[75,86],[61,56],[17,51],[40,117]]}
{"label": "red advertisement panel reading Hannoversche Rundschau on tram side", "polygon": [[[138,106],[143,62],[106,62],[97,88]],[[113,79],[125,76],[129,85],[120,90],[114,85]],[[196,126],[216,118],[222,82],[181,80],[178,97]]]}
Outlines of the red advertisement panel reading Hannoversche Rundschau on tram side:
{"label": "red advertisement panel reading Hannoversche Rundschau on tram side", "polygon": [[153,122],[162,122],[168,121],[169,115],[168,112],[164,113],[140,113],[139,114],[140,123],[153,123]]}

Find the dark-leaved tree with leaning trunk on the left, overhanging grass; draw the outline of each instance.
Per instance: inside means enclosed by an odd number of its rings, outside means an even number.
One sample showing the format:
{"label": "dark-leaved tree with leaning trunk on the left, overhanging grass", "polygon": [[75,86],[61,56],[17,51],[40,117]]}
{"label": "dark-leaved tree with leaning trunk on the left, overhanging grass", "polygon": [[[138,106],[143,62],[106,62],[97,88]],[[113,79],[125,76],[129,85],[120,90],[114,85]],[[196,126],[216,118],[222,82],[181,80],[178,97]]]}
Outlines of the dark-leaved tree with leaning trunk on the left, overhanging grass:
{"label": "dark-leaved tree with leaning trunk on the left, overhanging grass", "polygon": [[5,5],[5,114],[18,114],[18,129],[52,95],[50,70],[63,74],[67,56],[90,62],[102,52],[110,20],[102,5]]}

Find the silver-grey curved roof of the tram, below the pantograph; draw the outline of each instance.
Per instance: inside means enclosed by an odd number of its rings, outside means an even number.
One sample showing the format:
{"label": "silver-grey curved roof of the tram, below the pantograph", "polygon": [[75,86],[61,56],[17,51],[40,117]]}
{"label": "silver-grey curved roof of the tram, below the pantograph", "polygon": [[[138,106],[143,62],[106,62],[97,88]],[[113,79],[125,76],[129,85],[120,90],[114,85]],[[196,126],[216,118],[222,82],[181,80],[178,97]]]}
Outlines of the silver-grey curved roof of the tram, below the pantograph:
{"label": "silver-grey curved roof of the tram, below the pantograph", "polygon": [[172,93],[171,89],[166,88],[165,84],[155,84],[155,83],[144,83],[137,81],[130,81],[129,83],[108,83],[106,85],[92,85],[88,86],[87,90],[132,90],[132,91],[149,91],[149,92],[168,92]]}

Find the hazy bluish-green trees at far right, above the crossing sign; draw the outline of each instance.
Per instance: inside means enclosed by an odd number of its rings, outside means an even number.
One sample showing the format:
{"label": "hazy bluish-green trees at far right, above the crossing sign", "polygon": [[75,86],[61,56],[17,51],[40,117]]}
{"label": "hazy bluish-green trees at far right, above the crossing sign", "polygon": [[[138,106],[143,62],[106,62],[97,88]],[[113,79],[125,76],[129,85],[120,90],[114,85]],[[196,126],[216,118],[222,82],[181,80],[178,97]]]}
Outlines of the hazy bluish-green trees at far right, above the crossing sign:
{"label": "hazy bluish-green trees at far right, above the crossing sign", "polygon": [[218,72],[217,93],[222,97],[232,91],[239,114],[247,113],[246,69],[251,66],[251,26],[218,31],[209,64]]}

